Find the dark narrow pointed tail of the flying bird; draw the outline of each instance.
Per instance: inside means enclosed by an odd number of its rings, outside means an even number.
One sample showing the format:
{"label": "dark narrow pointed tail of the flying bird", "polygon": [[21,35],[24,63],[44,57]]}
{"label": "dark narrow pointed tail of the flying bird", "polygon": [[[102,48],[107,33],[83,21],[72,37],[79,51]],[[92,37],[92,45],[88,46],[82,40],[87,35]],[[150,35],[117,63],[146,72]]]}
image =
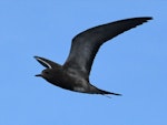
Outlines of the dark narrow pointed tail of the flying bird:
{"label": "dark narrow pointed tail of the flying bird", "polygon": [[102,95],[105,95],[105,94],[121,95],[121,94],[118,94],[118,93],[112,93],[112,92],[100,90],[100,88],[98,88],[94,85],[92,85],[91,92],[94,92],[95,94],[102,94]]}

